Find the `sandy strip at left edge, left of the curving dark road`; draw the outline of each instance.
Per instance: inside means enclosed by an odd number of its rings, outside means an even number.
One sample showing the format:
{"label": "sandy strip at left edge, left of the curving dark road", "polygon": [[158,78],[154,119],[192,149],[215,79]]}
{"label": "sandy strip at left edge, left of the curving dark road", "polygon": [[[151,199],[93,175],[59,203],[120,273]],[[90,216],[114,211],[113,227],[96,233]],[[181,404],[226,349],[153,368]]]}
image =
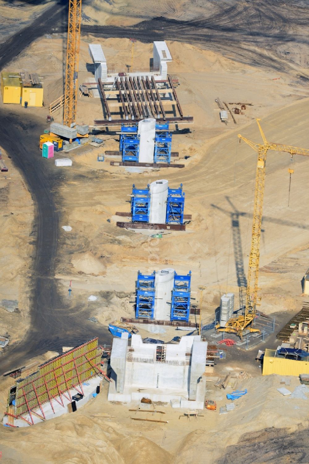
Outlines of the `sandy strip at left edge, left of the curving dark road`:
{"label": "sandy strip at left edge, left of the curving dark road", "polygon": [[0,335],[14,343],[29,325],[28,288],[33,253],[33,203],[24,180],[2,150],[8,172],[0,173]]}

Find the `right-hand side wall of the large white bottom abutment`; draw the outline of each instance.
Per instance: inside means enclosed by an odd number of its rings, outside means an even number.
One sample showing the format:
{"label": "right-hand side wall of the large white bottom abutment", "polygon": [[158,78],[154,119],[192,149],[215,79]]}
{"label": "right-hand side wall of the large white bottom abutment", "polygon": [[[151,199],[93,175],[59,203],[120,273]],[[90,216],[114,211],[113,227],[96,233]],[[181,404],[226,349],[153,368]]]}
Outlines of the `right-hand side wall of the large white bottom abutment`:
{"label": "right-hand side wall of the large white bottom abutment", "polygon": [[197,382],[205,372],[207,342],[195,340],[189,367],[189,400],[196,400]]}

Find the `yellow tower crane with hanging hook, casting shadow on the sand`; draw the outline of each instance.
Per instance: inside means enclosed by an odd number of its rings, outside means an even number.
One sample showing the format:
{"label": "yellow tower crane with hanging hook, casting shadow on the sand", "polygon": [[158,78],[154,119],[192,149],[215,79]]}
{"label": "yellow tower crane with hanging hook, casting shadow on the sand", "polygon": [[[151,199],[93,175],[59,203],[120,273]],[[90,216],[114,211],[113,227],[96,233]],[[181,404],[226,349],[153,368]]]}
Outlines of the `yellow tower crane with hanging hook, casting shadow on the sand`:
{"label": "yellow tower crane with hanging hook, casting shadow on the sand", "polygon": [[[259,123],[260,119],[257,119],[259,131],[262,135],[264,145],[260,143],[251,142],[242,135],[238,134],[241,140],[244,140],[250,145],[253,150],[258,152],[258,163],[255,176],[255,194],[254,194],[254,206],[253,206],[253,223],[252,223],[252,238],[251,238],[251,250],[249,255],[249,270],[247,279],[246,289],[246,306],[244,314],[232,317],[227,321],[224,328],[219,329],[221,332],[230,332],[240,336],[242,338],[243,330],[247,329],[248,332],[259,332],[259,329],[254,329],[252,324],[256,316],[256,305],[258,296],[258,280],[259,280],[259,245],[261,238],[261,226],[262,226],[262,211],[263,211],[263,198],[264,198],[264,186],[265,186],[265,168],[266,168],[266,155],[268,150],[281,151],[290,153],[290,176],[294,170],[291,169],[294,155],[309,156],[309,150],[305,148],[291,147],[290,145],[283,145],[281,143],[267,142],[265,134]],[[250,326],[250,327],[249,327]]]}

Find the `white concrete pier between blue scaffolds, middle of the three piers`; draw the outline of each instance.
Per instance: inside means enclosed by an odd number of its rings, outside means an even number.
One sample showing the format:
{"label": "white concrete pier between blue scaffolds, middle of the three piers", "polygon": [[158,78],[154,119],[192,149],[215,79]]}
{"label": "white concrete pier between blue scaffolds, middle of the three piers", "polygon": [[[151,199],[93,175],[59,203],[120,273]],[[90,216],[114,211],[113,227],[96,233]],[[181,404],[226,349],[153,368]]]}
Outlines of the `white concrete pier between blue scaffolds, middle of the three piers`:
{"label": "white concrete pier between blue scaffolds, middle of the three piers", "polygon": [[165,224],[168,189],[169,181],[166,179],[155,180],[150,184],[149,222],[151,224]]}

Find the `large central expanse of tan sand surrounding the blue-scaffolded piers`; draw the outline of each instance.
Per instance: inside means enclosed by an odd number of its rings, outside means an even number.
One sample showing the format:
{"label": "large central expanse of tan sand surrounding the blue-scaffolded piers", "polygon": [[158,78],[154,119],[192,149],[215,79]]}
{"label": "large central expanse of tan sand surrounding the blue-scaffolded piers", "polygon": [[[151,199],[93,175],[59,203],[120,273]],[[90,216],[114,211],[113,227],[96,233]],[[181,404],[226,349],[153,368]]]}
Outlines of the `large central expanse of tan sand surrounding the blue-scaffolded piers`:
{"label": "large central expanse of tan sand surrounding the blue-scaffolded piers", "polygon": [[[116,69],[125,69],[130,56],[129,40],[101,40],[91,36],[83,39],[80,82],[87,81],[92,75],[88,71],[91,69],[88,66],[88,43],[94,41],[102,44],[107,63],[112,62]],[[53,46],[48,56],[47,43],[50,39],[34,42],[7,67],[8,70],[36,70],[44,77],[45,106],[62,91],[63,38],[57,34],[52,36]],[[172,149],[179,151],[185,168],[136,172],[111,167],[108,162],[98,163],[98,154],[118,148],[118,135],[103,134],[103,148],[86,145],[70,152],[74,164],[65,169],[65,182],[58,188],[57,206],[62,210],[59,226],[72,227],[71,232],[60,229],[56,273],[60,293],[68,302],[68,286],[72,281],[69,306],[84,304],[89,316],[103,324],[121,316],[133,317],[138,270],[151,272],[165,266],[172,266],[177,272],[192,271],[192,290],[196,299],[198,286],[207,287],[203,297],[203,322],[211,322],[221,294],[226,290],[238,293],[235,260],[243,260],[245,274],[247,269],[256,158],[250,147],[244,142],[239,143],[237,133],[240,127],[244,128],[241,130],[243,135],[259,141],[254,118],[262,117],[263,128],[270,140],[298,146],[306,146],[307,142],[303,111],[307,105],[304,97],[309,92],[303,85],[296,85],[293,77],[281,74],[280,79],[275,79],[277,74],[272,71],[240,65],[219,53],[177,42],[168,45],[173,56],[169,72],[179,77],[177,92],[183,113],[195,118],[190,134],[173,138]],[[134,50],[134,67],[147,67],[151,44],[136,42]],[[220,122],[219,109],[214,102],[216,97],[228,103],[242,101],[252,103],[252,106],[246,107],[244,115],[236,116],[237,125],[229,121],[225,126]],[[43,117],[46,113],[45,108],[30,111]],[[265,118],[267,114],[271,115]],[[91,124],[101,115],[100,99],[79,98],[78,120]],[[61,121],[60,112],[56,113],[55,120]],[[184,155],[190,158],[184,160]],[[302,299],[300,281],[308,267],[306,236],[309,225],[303,214],[300,188],[307,175],[306,162],[296,157],[288,208],[288,160],[288,154],[270,152],[268,155],[260,273],[261,309],[267,313],[299,308]],[[301,163],[302,168],[298,168]],[[145,187],[158,178],[167,178],[172,187],[183,183],[185,213],[192,214],[186,232],[165,233],[162,239],[157,239],[116,228],[114,214],[129,211],[128,194],[132,184]],[[242,256],[234,256],[231,234],[231,213],[234,211],[240,213],[238,233]],[[97,300],[89,302],[90,295],[95,295]],[[167,338],[170,335],[168,333]]]}

